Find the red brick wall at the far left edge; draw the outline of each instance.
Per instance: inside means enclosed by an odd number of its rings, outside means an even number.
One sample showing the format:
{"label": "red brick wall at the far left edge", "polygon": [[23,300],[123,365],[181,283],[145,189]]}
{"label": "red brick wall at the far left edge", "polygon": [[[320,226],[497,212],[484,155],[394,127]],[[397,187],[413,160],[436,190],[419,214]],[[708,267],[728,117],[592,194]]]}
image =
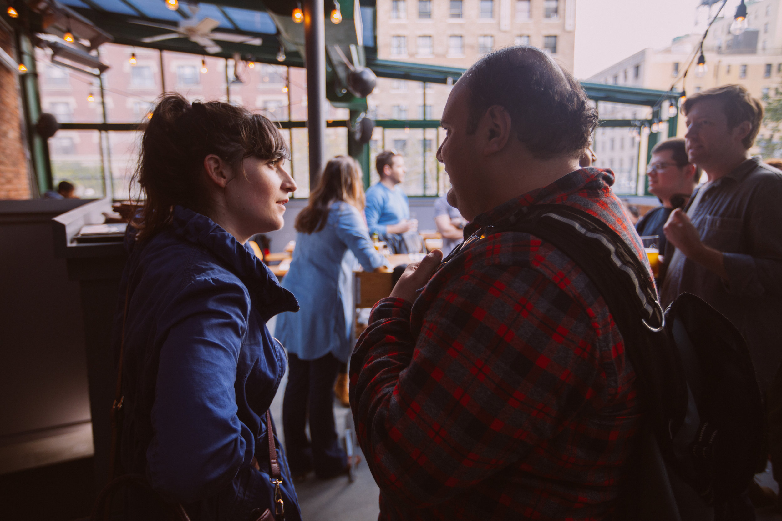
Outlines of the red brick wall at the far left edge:
{"label": "red brick wall at the far left edge", "polygon": [[[0,47],[11,56],[13,36],[0,27]],[[21,128],[22,100],[16,74],[0,65],[0,199],[29,199],[30,180],[24,156],[25,139]]]}

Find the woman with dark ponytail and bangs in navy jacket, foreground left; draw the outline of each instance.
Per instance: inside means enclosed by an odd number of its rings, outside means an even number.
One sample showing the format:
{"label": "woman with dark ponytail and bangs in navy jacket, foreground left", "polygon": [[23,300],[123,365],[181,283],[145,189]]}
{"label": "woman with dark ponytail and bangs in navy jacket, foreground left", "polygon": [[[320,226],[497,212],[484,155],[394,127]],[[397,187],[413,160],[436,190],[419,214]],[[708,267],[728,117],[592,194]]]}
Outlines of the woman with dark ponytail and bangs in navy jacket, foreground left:
{"label": "woman with dark ponytail and bangs in navy jacket, foreground left", "polygon": [[[298,305],[246,248],[282,227],[296,190],[287,155],[264,116],[180,95],[160,99],[142,137],[145,201],[127,236],[113,337],[123,353],[121,460],[192,519],[254,521],[275,512],[275,493],[285,519],[300,519],[267,423],[285,351],[265,326]],[[166,518],[155,498],[128,504],[129,519]]]}

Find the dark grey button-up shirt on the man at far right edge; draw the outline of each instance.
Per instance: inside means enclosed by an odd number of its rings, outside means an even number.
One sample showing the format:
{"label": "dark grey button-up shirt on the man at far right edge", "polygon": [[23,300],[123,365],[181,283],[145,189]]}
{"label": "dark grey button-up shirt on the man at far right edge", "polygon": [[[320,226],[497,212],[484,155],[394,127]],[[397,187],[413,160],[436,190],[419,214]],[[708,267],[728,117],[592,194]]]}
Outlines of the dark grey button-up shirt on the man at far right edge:
{"label": "dark grey button-up shirt on the man at far right edge", "polygon": [[[690,198],[695,200],[696,189]],[[683,292],[703,298],[726,316],[747,341],[763,391],[782,362],[782,172],[760,156],[706,187],[692,223],[707,246],[723,252],[727,280],[685,259],[665,273],[663,306]],[[688,207],[689,208],[689,207]],[[673,257],[668,244],[666,259]]]}

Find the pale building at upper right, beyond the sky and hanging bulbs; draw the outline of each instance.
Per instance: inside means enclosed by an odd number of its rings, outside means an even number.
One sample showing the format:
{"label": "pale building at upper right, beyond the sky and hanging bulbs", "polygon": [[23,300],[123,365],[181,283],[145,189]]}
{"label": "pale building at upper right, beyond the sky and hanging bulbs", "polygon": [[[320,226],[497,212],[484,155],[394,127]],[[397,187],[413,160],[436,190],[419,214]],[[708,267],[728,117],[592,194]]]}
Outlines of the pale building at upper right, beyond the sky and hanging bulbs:
{"label": "pale building at upper right, beyond the sky and hanging bulbs", "polygon": [[[595,83],[645,87],[667,91],[674,82],[677,90],[691,94],[725,84],[741,84],[762,98],[773,94],[782,80],[782,17],[778,0],[746,2],[748,28],[743,34],[730,34],[733,12],[723,12],[714,22],[704,41],[706,67],[698,72],[698,44],[702,34],[674,38],[666,48],[645,48],[587,79]],[[688,64],[693,64],[682,82]],[[651,109],[633,105],[600,103],[604,120],[647,118]],[[662,117],[668,116],[667,105]],[[667,137],[667,123],[659,126],[661,139]],[[677,135],[686,131],[679,118]],[[761,135],[763,131],[761,130]],[[631,144],[632,142],[632,144]],[[632,191],[635,170],[644,170],[646,139],[626,128],[601,128],[595,133],[597,165],[612,168],[617,173],[618,192]],[[633,153],[631,153],[633,152]],[[643,174],[643,172],[641,172]],[[644,176],[637,177],[637,189],[643,191]]]}

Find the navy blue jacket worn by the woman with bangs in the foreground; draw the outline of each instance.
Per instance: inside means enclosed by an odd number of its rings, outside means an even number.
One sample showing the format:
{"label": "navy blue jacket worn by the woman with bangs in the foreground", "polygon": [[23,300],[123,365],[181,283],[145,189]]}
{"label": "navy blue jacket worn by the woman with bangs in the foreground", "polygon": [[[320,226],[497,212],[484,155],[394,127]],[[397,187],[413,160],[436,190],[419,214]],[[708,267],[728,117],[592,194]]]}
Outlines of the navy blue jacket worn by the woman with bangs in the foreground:
{"label": "navy blue jacket worn by the woman with bangs in the foreground", "polygon": [[[264,413],[285,351],[265,323],[298,309],[296,298],[231,234],[180,206],[167,229],[143,244],[129,235],[127,245],[113,332],[116,350],[123,330],[125,337],[125,471],[145,474],[194,520],[249,521],[254,509],[274,511]],[[277,447],[286,519],[300,519]],[[163,517],[151,502],[131,507],[129,519]]]}

